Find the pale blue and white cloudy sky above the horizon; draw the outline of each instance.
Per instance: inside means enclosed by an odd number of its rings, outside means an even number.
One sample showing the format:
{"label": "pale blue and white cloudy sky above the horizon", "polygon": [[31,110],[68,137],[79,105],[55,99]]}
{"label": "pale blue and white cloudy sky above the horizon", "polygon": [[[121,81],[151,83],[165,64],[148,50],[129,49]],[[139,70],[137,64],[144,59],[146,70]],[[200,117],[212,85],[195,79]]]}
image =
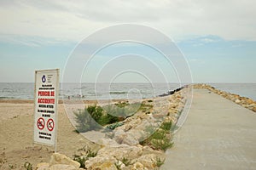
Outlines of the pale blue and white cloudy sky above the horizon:
{"label": "pale blue and white cloudy sky above the horizon", "polygon": [[[193,82],[256,83],[256,1],[75,2],[0,1],[0,82],[34,82],[34,71],[53,68],[60,68],[62,81],[70,57],[84,39],[109,26],[136,24],[175,42]],[[119,42],[96,53],[83,70],[73,65],[69,73],[79,70],[82,82],[177,82],[182,73],[172,64],[145,44]]]}

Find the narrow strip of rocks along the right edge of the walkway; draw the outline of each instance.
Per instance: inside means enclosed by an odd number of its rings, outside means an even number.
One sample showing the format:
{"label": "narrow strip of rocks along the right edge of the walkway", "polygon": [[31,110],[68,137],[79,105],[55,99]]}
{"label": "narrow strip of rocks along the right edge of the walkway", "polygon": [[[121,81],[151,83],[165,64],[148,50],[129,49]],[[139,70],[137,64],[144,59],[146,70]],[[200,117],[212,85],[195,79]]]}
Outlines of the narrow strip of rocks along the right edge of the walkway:
{"label": "narrow strip of rocks along the right edge of the walkway", "polygon": [[212,93],[218,94],[218,95],[224,97],[225,99],[230,99],[231,101],[235,102],[236,104],[241,105],[251,111],[256,112],[256,101],[253,101],[253,99],[249,99],[247,97],[241,97],[238,94],[230,94],[228,92],[224,92],[224,91],[218,90],[216,88],[213,88],[212,86],[207,85],[207,84],[194,84],[193,88],[208,89]]}

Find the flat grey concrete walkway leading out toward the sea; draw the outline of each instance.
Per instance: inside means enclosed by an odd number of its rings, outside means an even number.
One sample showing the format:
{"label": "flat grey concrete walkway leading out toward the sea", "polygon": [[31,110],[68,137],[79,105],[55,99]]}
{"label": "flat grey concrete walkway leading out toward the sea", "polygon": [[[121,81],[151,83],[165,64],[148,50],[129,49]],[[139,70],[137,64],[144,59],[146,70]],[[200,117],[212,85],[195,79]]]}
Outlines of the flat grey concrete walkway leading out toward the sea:
{"label": "flat grey concrete walkway leading out toward the sea", "polygon": [[256,169],[256,113],[195,89],[186,122],[161,169]]}

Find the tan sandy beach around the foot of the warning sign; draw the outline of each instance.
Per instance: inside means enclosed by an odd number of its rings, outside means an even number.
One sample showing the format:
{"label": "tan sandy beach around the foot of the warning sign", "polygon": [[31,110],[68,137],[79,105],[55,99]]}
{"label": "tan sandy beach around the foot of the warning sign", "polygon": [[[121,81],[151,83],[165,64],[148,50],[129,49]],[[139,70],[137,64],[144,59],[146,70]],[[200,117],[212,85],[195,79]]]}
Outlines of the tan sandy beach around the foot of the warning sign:
{"label": "tan sandy beach around the foot of the warning sign", "polygon": [[[55,148],[33,144],[33,102],[32,100],[0,100],[0,169],[25,169],[26,161],[33,167],[39,162],[49,161]],[[76,150],[90,146],[99,147],[74,132],[64,105],[58,106],[57,151],[73,157]]]}

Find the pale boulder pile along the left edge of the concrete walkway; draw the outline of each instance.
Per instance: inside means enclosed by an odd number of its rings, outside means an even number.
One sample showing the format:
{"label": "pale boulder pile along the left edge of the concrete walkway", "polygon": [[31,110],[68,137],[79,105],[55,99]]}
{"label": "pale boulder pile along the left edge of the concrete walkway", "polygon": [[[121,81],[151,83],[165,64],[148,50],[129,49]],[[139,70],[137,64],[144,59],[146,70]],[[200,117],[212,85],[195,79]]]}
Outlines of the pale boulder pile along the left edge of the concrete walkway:
{"label": "pale boulder pile along the left edge of the concrete walkway", "polygon": [[[113,132],[100,139],[101,148],[97,150],[96,156],[88,156],[88,150],[78,150],[75,154],[79,156],[78,162],[61,154],[53,154],[49,163],[39,163],[36,169],[78,170],[83,169],[80,167],[82,164],[85,169],[91,170],[158,169],[165,161],[165,151],[155,147],[154,144],[143,144],[142,140],[160,131],[160,126],[164,122],[172,122],[172,126],[175,127],[186,102],[184,96],[187,90],[188,88],[183,88],[172,95],[144,99],[146,105],[154,101],[154,107],[148,111],[137,111],[136,114],[125,119],[122,126],[116,127]],[[172,135],[172,131],[166,133],[168,142],[172,139]],[[154,142],[160,146],[165,143],[164,139],[157,138]]]}

